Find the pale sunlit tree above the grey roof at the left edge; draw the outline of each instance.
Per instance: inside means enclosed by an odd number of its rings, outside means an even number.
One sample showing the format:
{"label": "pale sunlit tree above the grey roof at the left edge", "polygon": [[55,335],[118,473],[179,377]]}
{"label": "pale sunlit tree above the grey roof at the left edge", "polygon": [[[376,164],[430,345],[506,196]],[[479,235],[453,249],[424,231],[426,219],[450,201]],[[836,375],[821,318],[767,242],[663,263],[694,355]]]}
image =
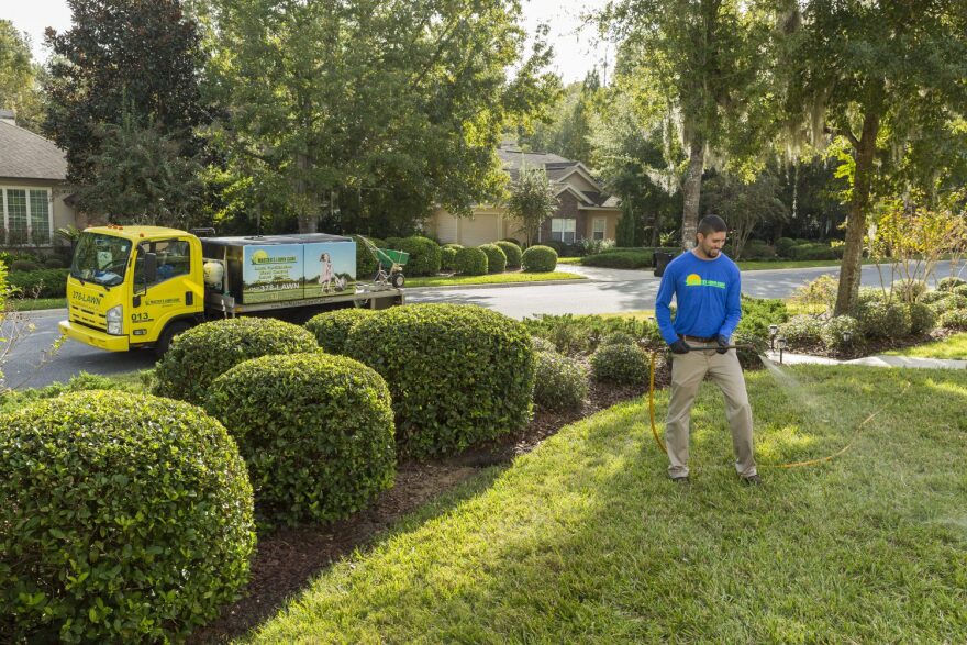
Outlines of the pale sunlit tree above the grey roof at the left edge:
{"label": "pale sunlit tree above the grey roof at the left edge", "polygon": [[16,124],[33,132],[40,132],[44,119],[42,76],[31,56],[30,37],[0,20],[0,108],[13,110]]}

